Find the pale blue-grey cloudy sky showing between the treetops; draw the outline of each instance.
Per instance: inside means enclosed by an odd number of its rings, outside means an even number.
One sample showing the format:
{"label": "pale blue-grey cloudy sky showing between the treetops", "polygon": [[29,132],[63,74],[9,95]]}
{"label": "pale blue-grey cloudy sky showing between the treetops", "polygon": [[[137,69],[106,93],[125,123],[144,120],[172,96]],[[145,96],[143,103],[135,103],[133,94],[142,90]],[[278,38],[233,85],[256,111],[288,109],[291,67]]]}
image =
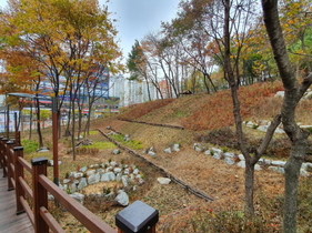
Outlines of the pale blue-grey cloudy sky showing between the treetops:
{"label": "pale blue-grey cloudy sky showing between the treetops", "polygon": [[[135,39],[141,40],[149,32],[160,30],[161,21],[168,22],[175,17],[180,0],[110,0],[108,4],[113,19],[117,19],[120,47],[128,58]],[[4,8],[7,0],[0,0]],[[104,4],[107,0],[99,0]]]}

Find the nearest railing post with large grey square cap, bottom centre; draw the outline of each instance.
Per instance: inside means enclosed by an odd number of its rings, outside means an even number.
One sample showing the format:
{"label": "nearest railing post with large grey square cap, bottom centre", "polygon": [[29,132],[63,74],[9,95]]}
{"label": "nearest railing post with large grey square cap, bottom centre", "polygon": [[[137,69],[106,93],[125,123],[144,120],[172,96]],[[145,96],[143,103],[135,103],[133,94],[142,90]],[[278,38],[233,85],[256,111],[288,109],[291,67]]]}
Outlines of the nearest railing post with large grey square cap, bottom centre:
{"label": "nearest railing post with large grey square cap, bottom centre", "polygon": [[135,201],[115,215],[118,233],[155,233],[159,213],[150,205]]}

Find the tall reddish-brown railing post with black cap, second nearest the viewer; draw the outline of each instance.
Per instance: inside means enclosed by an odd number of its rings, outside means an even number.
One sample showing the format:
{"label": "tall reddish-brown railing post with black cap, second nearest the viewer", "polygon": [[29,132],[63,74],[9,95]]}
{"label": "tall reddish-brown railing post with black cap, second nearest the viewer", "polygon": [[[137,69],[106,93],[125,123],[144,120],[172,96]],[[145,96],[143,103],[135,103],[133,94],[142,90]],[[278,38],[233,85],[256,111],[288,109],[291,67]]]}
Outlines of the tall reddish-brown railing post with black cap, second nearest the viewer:
{"label": "tall reddish-brown railing post with black cap, second nearest the viewer", "polygon": [[32,164],[32,191],[33,191],[33,216],[34,216],[34,232],[49,233],[49,226],[40,214],[40,207],[48,209],[48,192],[39,183],[39,175],[47,175],[46,158],[36,158],[31,160]]}

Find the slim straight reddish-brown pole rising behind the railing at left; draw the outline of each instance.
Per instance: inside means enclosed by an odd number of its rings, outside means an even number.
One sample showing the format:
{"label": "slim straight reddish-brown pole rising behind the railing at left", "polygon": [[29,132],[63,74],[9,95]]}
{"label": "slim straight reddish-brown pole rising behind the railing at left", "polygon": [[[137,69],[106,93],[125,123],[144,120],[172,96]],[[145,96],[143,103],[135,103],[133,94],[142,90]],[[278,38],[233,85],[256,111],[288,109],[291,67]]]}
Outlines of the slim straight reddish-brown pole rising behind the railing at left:
{"label": "slim straight reddish-brown pole rising behind the railing at left", "polygon": [[58,155],[58,101],[52,97],[52,134],[53,134],[53,182],[59,185],[59,155]]}

